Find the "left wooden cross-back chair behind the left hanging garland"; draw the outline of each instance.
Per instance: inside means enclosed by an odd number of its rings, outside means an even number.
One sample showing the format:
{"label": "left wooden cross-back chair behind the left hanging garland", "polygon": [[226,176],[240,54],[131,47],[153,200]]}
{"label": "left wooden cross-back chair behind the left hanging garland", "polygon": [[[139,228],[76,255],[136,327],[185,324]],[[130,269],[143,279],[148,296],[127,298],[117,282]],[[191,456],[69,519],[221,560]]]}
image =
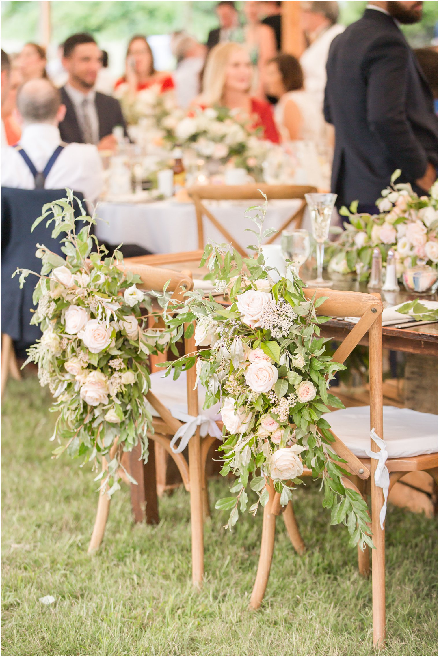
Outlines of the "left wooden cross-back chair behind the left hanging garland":
{"label": "left wooden cross-back chair behind the left hanging garland", "polygon": [[[121,265],[122,267],[123,265]],[[124,265],[134,274],[138,274],[142,279],[139,288],[145,290],[163,290],[167,281],[170,281],[167,290],[175,292],[173,298],[181,300],[186,291],[191,290],[193,286],[191,272],[176,272],[170,269],[158,269],[147,265],[138,265],[129,263]],[[195,338],[184,338],[185,353],[195,353]],[[162,379],[164,372],[157,373],[156,376]],[[185,385],[184,385],[185,379]],[[186,376],[181,376],[178,380],[173,381],[172,376],[166,378],[166,382],[173,387],[173,392],[178,391],[183,401],[187,401],[187,414],[193,417],[198,416],[199,397],[197,390],[194,390],[196,380],[196,369],[193,367],[188,370]],[[189,457],[185,459],[182,453],[174,453],[170,446],[171,440],[177,430],[184,424],[175,419],[166,406],[166,398],[154,395],[154,384],[158,384],[158,379],[154,374],[151,376],[151,388],[147,393],[147,399],[156,413],[153,419],[154,433],[148,434],[149,440],[162,445],[171,455],[181,474],[185,489],[191,496],[191,532],[192,532],[192,573],[193,583],[199,586],[204,576],[204,505],[206,503],[204,466],[210,446],[216,440],[213,436],[200,437],[199,427],[195,434],[189,440],[188,451]],[[182,385],[183,384],[183,385]],[[183,388],[183,389],[182,389]],[[113,445],[109,458],[114,458],[116,450],[121,449],[120,445]],[[103,469],[108,468],[108,462],[103,459]],[[155,484],[155,482],[154,482]],[[110,499],[106,493],[99,495],[97,516],[95,526],[91,535],[89,552],[95,551],[101,545],[108,512],[110,510]]]}

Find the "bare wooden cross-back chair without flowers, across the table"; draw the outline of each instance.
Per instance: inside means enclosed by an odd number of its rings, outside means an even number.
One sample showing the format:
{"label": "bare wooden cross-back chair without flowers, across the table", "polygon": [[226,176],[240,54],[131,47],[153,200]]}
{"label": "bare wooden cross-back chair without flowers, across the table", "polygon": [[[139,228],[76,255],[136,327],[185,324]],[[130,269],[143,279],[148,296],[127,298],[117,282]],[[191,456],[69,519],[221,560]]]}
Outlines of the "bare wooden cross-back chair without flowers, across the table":
{"label": "bare wooden cross-back chair without flowers, across the table", "polygon": [[[302,218],[306,207],[305,194],[312,194],[317,189],[311,185],[266,185],[266,183],[254,185],[195,185],[189,187],[187,193],[191,196],[196,212],[196,227],[198,230],[198,249],[204,249],[204,224],[203,217],[206,217],[218,231],[225,237],[227,242],[231,242],[233,247],[241,254],[247,256],[247,252],[242,244],[239,244],[235,238],[225,229],[218,219],[202,203],[204,200],[262,200],[260,191],[264,192],[267,200],[275,198],[296,198],[302,202],[297,210],[279,227],[279,233],[285,231],[291,224],[294,228],[300,228]],[[264,244],[271,244],[277,238],[277,234],[267,238]]]}

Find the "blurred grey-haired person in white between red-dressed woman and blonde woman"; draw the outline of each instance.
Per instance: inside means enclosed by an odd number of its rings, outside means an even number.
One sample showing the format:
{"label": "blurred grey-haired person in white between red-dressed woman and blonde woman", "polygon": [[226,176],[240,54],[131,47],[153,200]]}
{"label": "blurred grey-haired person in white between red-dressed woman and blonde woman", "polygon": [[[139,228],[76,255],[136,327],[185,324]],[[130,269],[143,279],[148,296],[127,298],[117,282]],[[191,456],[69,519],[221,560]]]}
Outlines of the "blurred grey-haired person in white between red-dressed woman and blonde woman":
{"label": "blurred grey-haired person in white between red-dressed woman and blonde woman", "polygon": [[204,66],[205,51],[206,47],[189,34],[175,38],[173,54],[178,63],[173,72],[173,81],[175,97],[180,107],[189,107],[200,93],[200,72]]}

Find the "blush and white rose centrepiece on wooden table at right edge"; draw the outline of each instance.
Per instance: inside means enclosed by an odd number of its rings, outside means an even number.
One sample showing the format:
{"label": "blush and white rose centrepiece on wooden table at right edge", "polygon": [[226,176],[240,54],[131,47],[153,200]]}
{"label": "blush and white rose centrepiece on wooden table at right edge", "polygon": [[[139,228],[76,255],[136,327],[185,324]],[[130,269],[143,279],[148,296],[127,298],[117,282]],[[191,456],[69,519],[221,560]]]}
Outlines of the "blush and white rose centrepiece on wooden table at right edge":
{"label": "blush and white rose centrepiece on wooden table at right edge", "polygon": [[369,279],[373,248],[381,250],[382,261],[392,248],[396,255],[398,277],[413,267],[418,258],[438,266],[438,183],[434,183],[428,196],[419,197],[408,183],[394,184],[401,175],[396,170],[391,185],[377,200],[379,214],[357,214],[358,202],[341,208],[340,214],[349,218],[345,230],[336,242],[330,244],[331,258],[328,269],[346,274],[357,271],[361,280]]}

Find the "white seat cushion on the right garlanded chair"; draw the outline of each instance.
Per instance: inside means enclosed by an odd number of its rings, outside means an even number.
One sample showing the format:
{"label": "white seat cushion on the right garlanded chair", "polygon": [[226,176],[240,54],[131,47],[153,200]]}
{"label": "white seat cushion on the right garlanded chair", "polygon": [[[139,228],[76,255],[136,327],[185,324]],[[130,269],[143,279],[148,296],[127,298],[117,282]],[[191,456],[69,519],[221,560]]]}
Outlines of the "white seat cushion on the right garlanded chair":
{"label": "white seat cushion on the right garlanded chair", "polygon": [[[355,406],[325,413],[333,432],[358,457],[371,448],[370,408]],[[438,416],[411,409],[383,406],[384,436],[389,459],[434,454],[438,451]]]}

